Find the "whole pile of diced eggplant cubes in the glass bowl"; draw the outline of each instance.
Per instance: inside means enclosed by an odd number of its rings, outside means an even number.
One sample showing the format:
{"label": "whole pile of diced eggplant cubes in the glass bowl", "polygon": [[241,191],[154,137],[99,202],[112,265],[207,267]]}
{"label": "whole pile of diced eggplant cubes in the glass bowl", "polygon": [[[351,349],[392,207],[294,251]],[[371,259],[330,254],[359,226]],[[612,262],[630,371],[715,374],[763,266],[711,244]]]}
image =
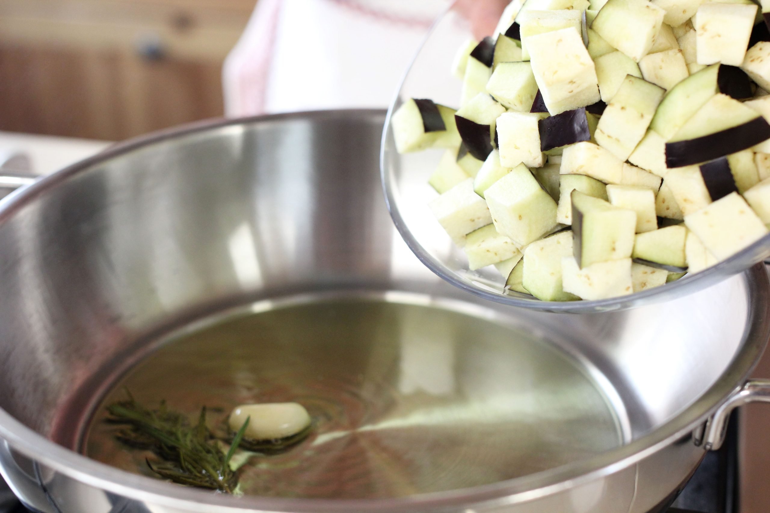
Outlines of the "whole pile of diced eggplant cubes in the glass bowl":
{"label": "whole pile of diced eggplant cubes in the glass bowl", "polygon": [[[399,152],[470,270],[543,301],[665,285],[770,223],[770,2],[514,0],[468,42],[460,108],[410,99]],[[766,18],[765,18],[766,17]]]}

